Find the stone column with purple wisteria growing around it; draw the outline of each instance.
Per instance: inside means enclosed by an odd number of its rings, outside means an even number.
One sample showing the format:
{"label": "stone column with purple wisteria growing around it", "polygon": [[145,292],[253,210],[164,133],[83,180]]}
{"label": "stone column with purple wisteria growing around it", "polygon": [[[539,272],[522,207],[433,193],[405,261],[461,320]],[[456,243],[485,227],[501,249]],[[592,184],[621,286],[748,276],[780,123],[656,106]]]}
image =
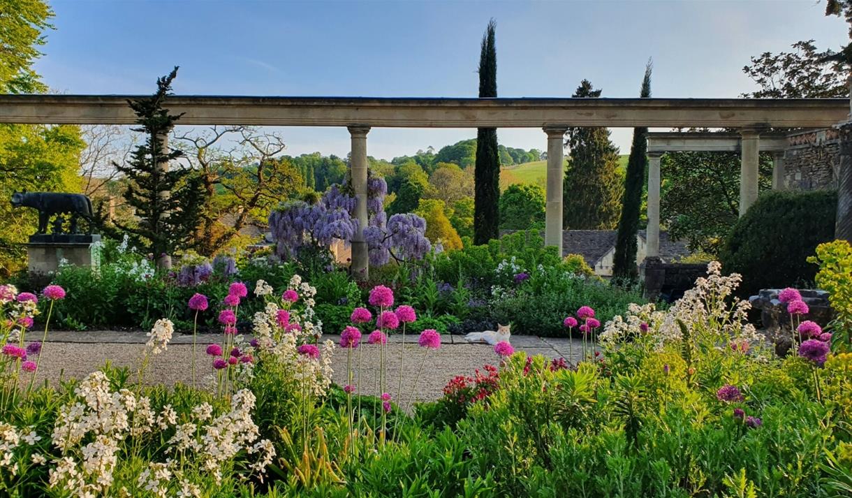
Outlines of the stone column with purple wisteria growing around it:
{"label": "stone column with purple wisteria growing around it", "polygon": [[352,169],[349,172],[355,193],[355,217],[358,219],[358,230],[352,238],[351,269],[356,279],[366,280],[370,272],[370,258],[364,240],[364,229],[367,226],[367,133],[370,127],[351,125],[348,129],[352,137],[352,155],[349,158]]}

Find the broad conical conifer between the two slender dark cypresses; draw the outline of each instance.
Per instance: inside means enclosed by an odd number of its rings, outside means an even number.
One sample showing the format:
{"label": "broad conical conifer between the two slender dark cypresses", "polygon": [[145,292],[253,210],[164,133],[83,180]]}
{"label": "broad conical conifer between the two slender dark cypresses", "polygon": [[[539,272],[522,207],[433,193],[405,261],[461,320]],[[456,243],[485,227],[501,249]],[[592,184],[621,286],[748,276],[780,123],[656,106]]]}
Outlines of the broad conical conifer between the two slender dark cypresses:
{"label": "broad conical conifer between the two slender dark cypresses", "polygon": [[[573,97],[597,98],[589,80],[580,83]],[[563,227],[566,229],[614,229],[618,223],[621,185],[616,169],[619,149],[609,140],[606,128],[569,128],[568,156],[563,188]]]}

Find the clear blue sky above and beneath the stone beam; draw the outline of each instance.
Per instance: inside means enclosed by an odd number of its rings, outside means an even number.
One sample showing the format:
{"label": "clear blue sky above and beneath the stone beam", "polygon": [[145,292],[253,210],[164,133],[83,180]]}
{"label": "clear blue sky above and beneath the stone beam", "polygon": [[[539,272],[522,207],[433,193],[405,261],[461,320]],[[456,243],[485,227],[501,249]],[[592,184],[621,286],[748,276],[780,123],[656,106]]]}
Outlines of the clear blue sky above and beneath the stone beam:
{"label": "clear blue sky above and beneath the stone beam", "polygon": [[[36,69],[62,93],[149,93],[181,67],[175,90],[199,95],[476,96],[482,32],[497,20],[498,95],[570,96],[583,78],[603,96],[637,96],[653,57],[653,96],[735,97],[754,90],[751,55],[814,38],[837,49],[847,25],[825,1],[283,2],[54,0]],[[288,153],[345,155],[348,132],[283,128]],[[630,130],[613,130],[628,153]],[[475,130],[374,129],[390,159]],[[500,142],[546,147],[541,130]]]}

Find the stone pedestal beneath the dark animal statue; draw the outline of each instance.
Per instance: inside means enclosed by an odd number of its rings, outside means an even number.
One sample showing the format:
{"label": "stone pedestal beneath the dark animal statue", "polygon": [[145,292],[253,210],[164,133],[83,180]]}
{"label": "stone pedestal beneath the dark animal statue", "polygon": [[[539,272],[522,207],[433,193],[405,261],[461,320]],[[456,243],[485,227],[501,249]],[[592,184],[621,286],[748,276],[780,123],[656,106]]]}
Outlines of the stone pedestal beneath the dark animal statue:
{"label": "stone pedestal beneath the dark animal statue", "polygon": [[47,275],[69,264],[97,268],[101,264],[101,235],[32,235],[26,245],[31,274]]}

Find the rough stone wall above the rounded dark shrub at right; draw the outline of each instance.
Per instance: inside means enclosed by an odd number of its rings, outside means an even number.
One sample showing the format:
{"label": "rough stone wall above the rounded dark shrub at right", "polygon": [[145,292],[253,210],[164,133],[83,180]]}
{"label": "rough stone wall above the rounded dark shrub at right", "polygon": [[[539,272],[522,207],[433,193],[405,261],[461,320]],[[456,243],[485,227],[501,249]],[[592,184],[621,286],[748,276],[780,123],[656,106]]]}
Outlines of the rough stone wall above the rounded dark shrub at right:
{"label": "rough stone wall above the rounded dark shrub at right", "polygon": [[784,188],[818,190],[838,187],[838,131],[800,131],[787,136],[784,152]]}

